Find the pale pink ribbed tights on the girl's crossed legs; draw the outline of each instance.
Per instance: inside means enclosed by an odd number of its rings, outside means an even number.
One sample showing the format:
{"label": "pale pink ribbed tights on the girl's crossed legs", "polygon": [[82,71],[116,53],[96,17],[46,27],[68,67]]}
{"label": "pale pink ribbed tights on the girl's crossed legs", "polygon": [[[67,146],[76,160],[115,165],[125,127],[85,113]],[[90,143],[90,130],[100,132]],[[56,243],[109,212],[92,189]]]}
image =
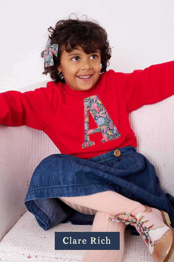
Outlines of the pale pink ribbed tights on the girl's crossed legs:
{"label": "pale pink ribbed tights on the girl's crossed legs", "polygon": [[[93,232],[120,232],[120,250],[87,250],[82,262],[120,262],[124,252],[126,226],[121,223],[113,223],[108,220],[108,217],[115,219],[115,215],[120,212],[128,212],[135,216],[139,212],[145,211],[146,207],[113,191],[59,199],[83,214],[95,215],[92,225]],[[119,217],[126,218],[125,216]]]}

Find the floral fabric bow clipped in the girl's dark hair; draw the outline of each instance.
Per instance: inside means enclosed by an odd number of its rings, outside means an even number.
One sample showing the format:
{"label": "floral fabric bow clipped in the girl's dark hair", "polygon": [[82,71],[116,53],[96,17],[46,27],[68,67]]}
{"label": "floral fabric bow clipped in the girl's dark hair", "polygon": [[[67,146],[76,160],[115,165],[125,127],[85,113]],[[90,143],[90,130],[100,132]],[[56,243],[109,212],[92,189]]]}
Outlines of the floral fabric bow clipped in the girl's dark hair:
{"label": "floral fabric bow clipped in the girl's dark hair", "polygon": [[53,55],[57,57],[57,54],[58,54],[58,44],[51,45],[51,39],[48,39],[46,43],[46,49],[44,50],[45,67],[54,65]]}

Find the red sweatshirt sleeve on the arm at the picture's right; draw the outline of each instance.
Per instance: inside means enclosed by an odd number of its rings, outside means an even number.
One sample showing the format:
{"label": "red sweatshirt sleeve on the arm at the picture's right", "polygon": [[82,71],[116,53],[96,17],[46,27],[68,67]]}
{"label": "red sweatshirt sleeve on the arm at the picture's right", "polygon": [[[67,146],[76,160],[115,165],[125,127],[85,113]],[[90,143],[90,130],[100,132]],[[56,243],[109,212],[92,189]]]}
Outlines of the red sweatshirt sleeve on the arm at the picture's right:
{"label": "red sweatshirt sleeve on the arm at the picture's right", "polygon": [[151,65],[133,73],[115,73],[115,81],[130,113],[142,105],[159,102],[174,94],[174,61]]}

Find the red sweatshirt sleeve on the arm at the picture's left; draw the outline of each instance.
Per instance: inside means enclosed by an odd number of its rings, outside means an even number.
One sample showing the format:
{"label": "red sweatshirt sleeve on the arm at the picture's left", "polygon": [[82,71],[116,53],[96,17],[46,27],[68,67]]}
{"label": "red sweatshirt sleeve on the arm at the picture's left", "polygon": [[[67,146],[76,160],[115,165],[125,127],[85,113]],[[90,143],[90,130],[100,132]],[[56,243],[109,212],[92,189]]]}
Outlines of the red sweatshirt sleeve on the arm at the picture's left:
{"label": "red sweatshirt sleeve on the arm at the picture's left", "polygon": [[7,91],[0,94],[0,124],[44,130],[49,125],[53,108],[53,88],[49,83],[46,88],[25,93]]}

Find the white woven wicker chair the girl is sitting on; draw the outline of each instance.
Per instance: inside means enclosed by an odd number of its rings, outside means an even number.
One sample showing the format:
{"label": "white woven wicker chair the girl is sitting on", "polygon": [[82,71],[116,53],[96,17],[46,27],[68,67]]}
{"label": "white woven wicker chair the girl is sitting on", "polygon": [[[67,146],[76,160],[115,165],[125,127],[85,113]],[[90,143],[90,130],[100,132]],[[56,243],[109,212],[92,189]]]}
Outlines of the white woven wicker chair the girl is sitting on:
{"label": "white woven wicker chair the girl is sitting on", "polygon": [[[21,91],[46,86],[37,83]],[[137,151],[155,166],[164,192],[174,196],[174,96],[143,106],[129,115]],[[0,125],[0,261],[81,261],[84,250],[55,250],[55,231],[90,231],[91,226],[59,224],[48,231],[26,210],[24,199],[35,167],[59,150],[42,131]],[[106,258],[107,261],[107,258]],[[154,261],[141,237],[125,233],[122,262]],[[108,261],[109,262],[109,261]]]}

